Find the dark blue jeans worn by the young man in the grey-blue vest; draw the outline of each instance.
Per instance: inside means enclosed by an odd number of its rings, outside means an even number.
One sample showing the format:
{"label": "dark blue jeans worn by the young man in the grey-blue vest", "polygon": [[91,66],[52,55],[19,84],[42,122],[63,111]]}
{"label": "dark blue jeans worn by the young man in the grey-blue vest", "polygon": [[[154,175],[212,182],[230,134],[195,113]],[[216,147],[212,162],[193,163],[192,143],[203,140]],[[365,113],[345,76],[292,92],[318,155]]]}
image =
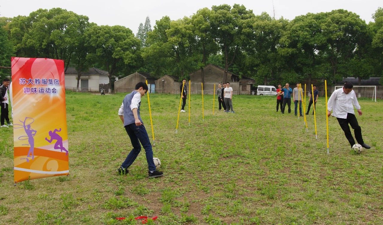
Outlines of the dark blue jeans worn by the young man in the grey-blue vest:
{"label": "dark blue jeans worn by the young man in the grey-blue vest", "polygon": [[123,168],[129,168],[129,166],[136,160],[138,154],[141,151],[141,145],[145,149],[146,161],[149,171],[155,171],[155,165],[153,162],[152,144],[149,141],[144,125],[137,126],[135,123],[131,123],[125,126],[126,133],[128,133],[130,141],[132,142],[133,149],[130,151],[125,161],[121,165]]}

